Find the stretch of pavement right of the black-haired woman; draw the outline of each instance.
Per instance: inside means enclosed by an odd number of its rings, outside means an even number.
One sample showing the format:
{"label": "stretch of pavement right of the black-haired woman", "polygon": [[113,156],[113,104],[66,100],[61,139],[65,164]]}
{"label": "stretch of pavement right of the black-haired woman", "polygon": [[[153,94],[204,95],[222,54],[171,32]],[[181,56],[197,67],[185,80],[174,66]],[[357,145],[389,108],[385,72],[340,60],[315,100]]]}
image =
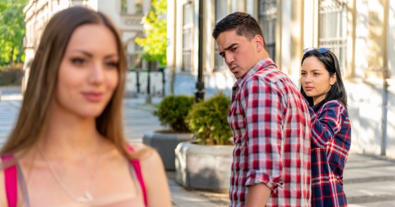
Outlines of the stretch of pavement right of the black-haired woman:
{"label": "stretch of pavement right of the black-haired woman", "polygon": [[350,207],[395,207],[395,161],[377,156],[349,156],[344,192]]}

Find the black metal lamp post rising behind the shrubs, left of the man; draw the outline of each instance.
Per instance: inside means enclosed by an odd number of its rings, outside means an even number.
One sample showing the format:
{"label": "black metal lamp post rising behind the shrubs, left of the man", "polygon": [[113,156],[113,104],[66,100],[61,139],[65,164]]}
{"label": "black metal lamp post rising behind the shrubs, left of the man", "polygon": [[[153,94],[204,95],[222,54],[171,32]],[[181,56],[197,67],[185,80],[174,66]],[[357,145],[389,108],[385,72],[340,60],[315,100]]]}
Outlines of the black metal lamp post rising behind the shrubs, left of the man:
{"label": "black metal lamp post rising behind the shrubs, left of the man", "polygon": [[197,92],[195,93],[195,103],[204,100],[204,80],[203,80],[203,58],[204,58],[204,1],[199,0],[199,38],[198,38],[198,63],[197,63],[197,83],[196,89]]}

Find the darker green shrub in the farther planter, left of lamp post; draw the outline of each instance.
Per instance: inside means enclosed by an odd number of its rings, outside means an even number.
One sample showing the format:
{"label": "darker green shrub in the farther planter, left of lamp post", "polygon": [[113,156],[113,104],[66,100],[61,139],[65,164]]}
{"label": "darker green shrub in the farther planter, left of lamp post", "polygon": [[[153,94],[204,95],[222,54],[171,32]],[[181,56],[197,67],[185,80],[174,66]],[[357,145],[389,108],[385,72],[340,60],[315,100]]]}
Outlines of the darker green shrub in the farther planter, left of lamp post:
{"label": "darker green shrub in the farther planter, left of lamp post", "polygon": [[193,104],[194,97],[167,96],[160,103],[158,110],[154,114],[158,116],[163,126],[169,125],[177,132],[190,132],[185,124],[185,117]]}

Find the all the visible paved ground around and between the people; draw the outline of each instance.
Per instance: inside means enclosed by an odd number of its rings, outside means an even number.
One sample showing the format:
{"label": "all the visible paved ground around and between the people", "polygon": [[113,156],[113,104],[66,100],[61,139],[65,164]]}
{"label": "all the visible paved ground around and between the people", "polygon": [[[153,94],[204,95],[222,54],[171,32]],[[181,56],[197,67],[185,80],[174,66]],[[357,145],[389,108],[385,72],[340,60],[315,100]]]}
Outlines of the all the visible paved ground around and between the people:
{"label": "all the visible paved ground around and between the people", "polygon": [[[153,104],[161,101],[153,97]],[[130,142],[142,142],[147,131],[164,129],[145,98],[124,100],[124,129]],[[0,145],[17,119],[21,101],[0,101]],[[228,192],[185,189],[166,172],[174,207],[228,207]],[[344,191],[350,207],[395,207],[395,160],[351,154],[344,171]]]}

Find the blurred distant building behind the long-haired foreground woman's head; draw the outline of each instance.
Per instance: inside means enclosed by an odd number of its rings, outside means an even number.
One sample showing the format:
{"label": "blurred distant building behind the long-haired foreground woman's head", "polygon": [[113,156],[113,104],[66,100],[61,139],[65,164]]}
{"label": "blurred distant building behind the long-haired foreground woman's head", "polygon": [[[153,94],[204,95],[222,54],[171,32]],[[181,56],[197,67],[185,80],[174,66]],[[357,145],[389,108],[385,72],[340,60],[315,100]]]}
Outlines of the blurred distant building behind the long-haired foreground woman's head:
{"label": "blurred distant building behind the long-haired foreground woman's head", "polygon": [[[128,73],[128,91],[137,91],[137,73],[151,67],[157,70],[155,64],[145,61],[142,48],[135,42],[136,37],[144,36],[144,27],[141,24],[142,18],[151,10],[151,0],[29,0],[24,8],[26,14],[26,37],[24,38],[25,47],[25,85],[29,77],[30,65],[35,56],[37,47],[40,43],[41,34],[48,20],[57,12],[71,6],[86,6],[96,11],[106,14],[119,28],[122,42],[127,52],[127,67],[134,72]],[[141,92],[146,90],[146,73],[140,75]],[[162,75],[154,72],[153,87],[161,92]],[[155,81],[158,79],[159,81]]]}

